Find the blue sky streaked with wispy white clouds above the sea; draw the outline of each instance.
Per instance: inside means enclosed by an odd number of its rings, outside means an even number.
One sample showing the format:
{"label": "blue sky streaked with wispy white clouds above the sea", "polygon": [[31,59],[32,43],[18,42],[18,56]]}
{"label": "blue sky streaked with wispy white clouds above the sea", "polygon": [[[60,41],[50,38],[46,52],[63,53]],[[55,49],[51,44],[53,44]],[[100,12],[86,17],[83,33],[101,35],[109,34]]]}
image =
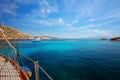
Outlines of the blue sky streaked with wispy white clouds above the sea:
{"label": "blue sky streaked with wispy white clouds above the sea", "polygon": [[0,24],[32,35],[120,36],[120,0],[0,0],[0,17]]}

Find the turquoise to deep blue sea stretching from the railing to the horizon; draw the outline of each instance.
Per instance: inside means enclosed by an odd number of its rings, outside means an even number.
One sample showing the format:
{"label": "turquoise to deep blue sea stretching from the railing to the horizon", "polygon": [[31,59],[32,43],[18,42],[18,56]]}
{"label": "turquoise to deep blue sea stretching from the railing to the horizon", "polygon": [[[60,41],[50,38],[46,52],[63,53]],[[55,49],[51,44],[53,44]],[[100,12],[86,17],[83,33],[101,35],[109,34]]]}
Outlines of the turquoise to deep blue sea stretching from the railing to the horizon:
{"label": "turquoise to deep blue sea stretching from the railing to the horizon", "polygon": [[120,42],[18,41],[17,46],[22,54],[38,60],[54,80],[120,80]]}

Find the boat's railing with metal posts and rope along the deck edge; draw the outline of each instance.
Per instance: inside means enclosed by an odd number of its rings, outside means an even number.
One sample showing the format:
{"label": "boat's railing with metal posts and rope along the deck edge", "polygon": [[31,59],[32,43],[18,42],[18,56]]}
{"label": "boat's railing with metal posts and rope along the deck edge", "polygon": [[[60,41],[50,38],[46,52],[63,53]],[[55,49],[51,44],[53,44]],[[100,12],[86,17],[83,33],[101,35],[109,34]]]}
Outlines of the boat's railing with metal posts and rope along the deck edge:
{"label": "boat's railing with metal posts and rope along the deck edge", "polygon": [[[33,60],[33,59],[31,59],[31,58],[29,58],[29,57],[27,57],[27,56],[25,56],[25,55],[18,52],[18,50],[6,38],[6,35],[4,34],[4,32],[3,32],[3,30],[1,28],[0,28],[0,32],[1,32],[1,34],[2,34],[2,36],[4,38],[4,40],[5,40],[6,44],[10,47],[10,49],[13,50],[14,54],[12,54],[12,55],[14,55],[14,60],[16,61],[17,65],[19,64],[18,61],[17,61],[18,60],[17,58],[19,58],[18,56],[23,56],[24,58],[26,58],[30,62],[34,63],[34,68],[35,68],[34,70],[35,70],[36,80],[39,80],[39,70],[41,70],[47,76],[47,78],[49,80],[53,80],[53,78],[40,66],[38,61],[35,61],[35,60]],[[10,56],[10,54],[9,54],[9,56]]]}

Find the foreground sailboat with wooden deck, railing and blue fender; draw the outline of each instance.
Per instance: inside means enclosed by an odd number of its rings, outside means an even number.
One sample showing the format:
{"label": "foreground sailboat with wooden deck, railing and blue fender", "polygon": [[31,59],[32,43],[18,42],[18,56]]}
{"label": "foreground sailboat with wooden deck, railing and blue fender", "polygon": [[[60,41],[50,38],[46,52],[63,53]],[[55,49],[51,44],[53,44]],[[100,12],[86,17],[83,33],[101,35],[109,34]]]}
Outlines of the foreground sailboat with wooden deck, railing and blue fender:
{"label": "foreground sailboat with wooden deck, railing and blue fender", "polygon": [[[3,24],[2,16],[0,16],[0,18]],[[53,80],[53,78],[39,65],[38,61],[21,54],[20,51],[11,44],[1,27],[0,35],[2,35],[3,38],[2,41],[0,41],[0,80],[30,80],[32,71],[35,73],[35,79],[33,80],[39,80],[40,71],[42,71],[49,80]],[[27,65],[21,66],[18,61],[20,57],[33,63],[34,70],[31,71]]]}

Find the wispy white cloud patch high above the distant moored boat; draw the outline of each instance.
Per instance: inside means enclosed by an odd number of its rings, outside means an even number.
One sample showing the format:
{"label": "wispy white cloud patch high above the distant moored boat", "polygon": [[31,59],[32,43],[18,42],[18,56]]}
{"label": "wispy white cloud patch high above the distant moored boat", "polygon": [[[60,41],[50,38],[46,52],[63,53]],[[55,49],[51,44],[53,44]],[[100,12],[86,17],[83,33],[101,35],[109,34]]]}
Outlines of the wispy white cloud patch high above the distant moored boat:
{"label": "wispy white cloud patch high above the distant moored boat", "polygon": [[48,17],[52,13],[56,13],[58,11],[56,4],[50,5],[46,0],[39,1],[36,3],[37,8],[33,9],[31,13],[27,14],[29,17]]}

